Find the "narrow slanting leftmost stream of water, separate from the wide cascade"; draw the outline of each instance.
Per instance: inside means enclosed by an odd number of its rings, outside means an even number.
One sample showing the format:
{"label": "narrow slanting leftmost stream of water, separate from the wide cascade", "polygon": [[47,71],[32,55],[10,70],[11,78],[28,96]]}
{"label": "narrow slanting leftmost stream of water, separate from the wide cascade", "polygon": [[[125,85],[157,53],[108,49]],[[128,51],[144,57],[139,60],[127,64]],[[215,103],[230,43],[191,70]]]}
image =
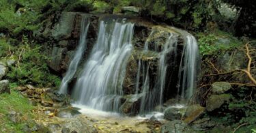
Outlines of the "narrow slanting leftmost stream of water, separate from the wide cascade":
{"label": "narrow slanting leftmost stream of water, separate from the wide cascade", "polygon": [[74,74],[76,73],[77,66],[79,65],[79,62],[80,62],[81,58],[83,57],[83,53],[84,53],[85,49],[87,48],[86,37],[87,37],[87,31],[89,28],[89,24],[90,24],[89,18],[87,18],[87,16],[82,16],[79,46],[76,49],[74,57],[70,61],[70,65],[68,66],[68,72],[66,72],[66,75],[61,80],[59,93],[67,93],[68,83],[73,78]]}

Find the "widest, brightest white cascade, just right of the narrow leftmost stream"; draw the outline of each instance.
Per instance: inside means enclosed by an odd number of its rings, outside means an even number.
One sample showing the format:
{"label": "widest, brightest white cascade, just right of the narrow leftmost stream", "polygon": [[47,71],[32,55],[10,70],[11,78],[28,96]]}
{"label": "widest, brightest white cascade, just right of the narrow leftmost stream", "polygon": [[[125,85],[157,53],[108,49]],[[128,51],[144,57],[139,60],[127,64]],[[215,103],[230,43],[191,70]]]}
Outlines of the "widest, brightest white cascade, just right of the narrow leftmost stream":
{"label": "widest, brightest white cascade, just right of the narrow leftmost stream", "polygon": [[96,44],[72,93],[76,104],[118,112],[133,29],[125,19],[100,21]]}

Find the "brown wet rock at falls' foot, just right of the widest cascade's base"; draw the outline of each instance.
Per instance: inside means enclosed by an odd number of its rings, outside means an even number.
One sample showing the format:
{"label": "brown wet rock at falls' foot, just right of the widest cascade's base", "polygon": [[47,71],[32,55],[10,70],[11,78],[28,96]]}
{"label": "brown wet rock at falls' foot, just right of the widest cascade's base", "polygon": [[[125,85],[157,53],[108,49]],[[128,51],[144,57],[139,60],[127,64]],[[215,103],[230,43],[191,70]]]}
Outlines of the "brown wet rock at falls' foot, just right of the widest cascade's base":
{"label": "brown wet rock at falls' foot, just right of the widest cascade's base", "polygon": [[143,95],[144,93],[125,95],[124,98],[122,98],[125,102],[120,106],[121,112],[126,115],[136,115],[139,113],[139,104]]}

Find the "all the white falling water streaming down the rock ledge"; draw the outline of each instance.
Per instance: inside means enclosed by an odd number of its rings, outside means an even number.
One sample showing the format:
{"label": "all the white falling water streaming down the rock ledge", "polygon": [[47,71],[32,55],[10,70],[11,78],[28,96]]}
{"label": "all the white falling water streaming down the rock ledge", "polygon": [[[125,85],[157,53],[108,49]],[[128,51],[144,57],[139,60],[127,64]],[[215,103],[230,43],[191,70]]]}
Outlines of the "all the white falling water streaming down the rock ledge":
{"label": "all the white falling water streaming down the rock ledge", "polygon": [[[83,57],[88,27],[89,21],[83,17],[79,46],[62,80],[60,93],[67,92],[68,82],[74,76]],[[189,99],[193,95],[199,57],[195,38],[180,29],[158,26],[152,27],[144,48],[136,49],[139,56],[135,59],[137,74],[133,74],[132,77],[134,92],[124,91],[126,70],[130,67],[127,65],[136,47],[132,44],[133,32],[134,23],[128,22],[125,18],[100,20],[98,38],[72,90],[75,104],[119,112],[124,100],[128,98],[124,95],[136,94],[139,95],[139,110],[134,112],[145,114],[167,100],[166,90],[175,89],[175,94],[178,93],[179,98],[184,99]],[[165,38],[164,41],[152,42],[159,37]],[[183,45],[179,44],[179,39],[183,40]],[[153,54],[153,57],[147,57],[148,54]],[[172,77],[173,72],[175,76]],[[174,80],[175,83],[169,83],[173,81],[171,78],[177,78]]]}

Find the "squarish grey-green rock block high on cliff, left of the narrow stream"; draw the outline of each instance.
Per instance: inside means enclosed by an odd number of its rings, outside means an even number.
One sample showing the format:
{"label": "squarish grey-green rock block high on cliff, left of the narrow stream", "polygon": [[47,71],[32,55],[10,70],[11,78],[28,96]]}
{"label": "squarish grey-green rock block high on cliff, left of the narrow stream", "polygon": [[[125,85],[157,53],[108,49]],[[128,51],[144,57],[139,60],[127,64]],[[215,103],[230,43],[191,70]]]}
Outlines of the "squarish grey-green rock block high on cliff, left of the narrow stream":
{"label": "squarish grey-green rock block high on cliff, left of the narrow stream", "polygon": [[63,12],[59,22],[55,25],[52,31],[55,40],[70,38],[74,27],[74,18],[76,13]]}

